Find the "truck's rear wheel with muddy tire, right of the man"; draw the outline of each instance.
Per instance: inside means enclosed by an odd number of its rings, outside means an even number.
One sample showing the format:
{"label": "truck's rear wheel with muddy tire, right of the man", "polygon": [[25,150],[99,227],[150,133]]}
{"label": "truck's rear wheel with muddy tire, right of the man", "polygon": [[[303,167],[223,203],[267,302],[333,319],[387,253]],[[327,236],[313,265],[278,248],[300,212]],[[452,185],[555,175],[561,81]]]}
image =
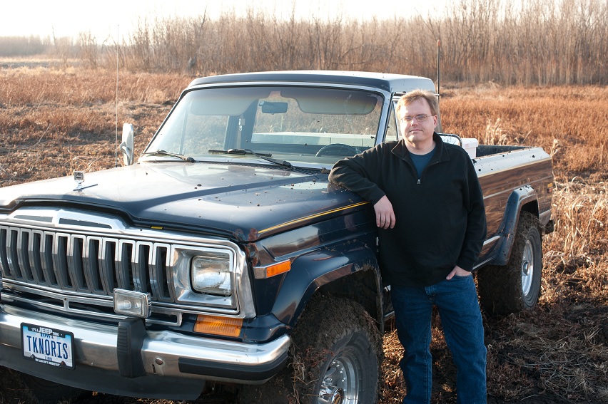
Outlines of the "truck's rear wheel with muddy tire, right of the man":
{"label": "truck's rear wheel with muddy tire, right of the man", "polygon": [[534,307],[542,279],[542,236],[538,218],[521,212],[509,262],[506,266],[485,266],[477,272],[477,289],[482,308],[505,315]]}

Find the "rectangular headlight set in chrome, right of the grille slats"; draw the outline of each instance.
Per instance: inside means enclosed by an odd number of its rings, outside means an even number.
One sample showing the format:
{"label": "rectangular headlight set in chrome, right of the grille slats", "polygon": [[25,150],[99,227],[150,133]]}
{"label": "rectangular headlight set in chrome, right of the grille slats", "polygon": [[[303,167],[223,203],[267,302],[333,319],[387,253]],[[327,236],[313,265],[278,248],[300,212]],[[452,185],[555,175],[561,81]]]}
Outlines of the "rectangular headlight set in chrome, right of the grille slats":
{"label": "rectangular headlight set in chrome, right of the grille slats", "polygon": [[196,256],[191,264],[191,284],[195,291],[216,296],[232,294],[230,257]]}

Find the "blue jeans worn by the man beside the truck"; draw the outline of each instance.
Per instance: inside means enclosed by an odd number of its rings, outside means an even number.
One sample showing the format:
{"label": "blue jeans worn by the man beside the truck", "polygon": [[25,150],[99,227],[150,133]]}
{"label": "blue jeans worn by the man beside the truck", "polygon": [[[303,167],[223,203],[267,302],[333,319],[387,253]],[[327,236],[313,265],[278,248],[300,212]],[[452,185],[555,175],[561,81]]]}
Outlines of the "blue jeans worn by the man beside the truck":
{"label": "blue jeans worn by the man beside the truck", "polygon": [[486,403],[484,331],[472,275],[454,276],[427,287],[391,286],[397,335],[405,353],[400,362],[407,395],[403,404],[430,403],[432,306],[437,306],[447,347],[456,365],[459,404]]}

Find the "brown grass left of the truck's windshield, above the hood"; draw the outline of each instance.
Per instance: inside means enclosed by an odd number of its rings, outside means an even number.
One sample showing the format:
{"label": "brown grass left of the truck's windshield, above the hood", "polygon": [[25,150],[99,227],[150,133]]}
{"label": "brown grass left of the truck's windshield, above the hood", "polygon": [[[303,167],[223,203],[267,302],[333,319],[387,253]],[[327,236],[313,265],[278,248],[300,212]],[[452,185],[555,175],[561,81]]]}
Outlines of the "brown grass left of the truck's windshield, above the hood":
{"label": "brown grass left of the truck's windshield, above the hood", "polygon": [[[179,75],[121,76],[118,130],[136,123],[139,152],[189,82]],[[6,69],[0,88],[0,186],[115,164],[116,73]]]}

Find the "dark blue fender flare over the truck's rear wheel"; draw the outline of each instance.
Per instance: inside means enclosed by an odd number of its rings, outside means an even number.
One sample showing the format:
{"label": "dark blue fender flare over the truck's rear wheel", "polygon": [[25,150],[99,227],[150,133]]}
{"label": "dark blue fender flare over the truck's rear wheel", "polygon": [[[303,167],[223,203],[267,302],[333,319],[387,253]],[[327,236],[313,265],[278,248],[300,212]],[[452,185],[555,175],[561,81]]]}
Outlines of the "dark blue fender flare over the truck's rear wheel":
{"label": "dark blue fender flare over the truck's rear wheel", "polygon": [[[525,207],[527,204],[533,204],[532,207]],[[515,233],[517,232],[517,224],[520,221],[520,212],[522,210],[529,210],[538,214],[538,197],[534,188],[530,185],[517,188],[511,192],[509,199],[507,200],[507,206],[505,207],[505,216],[502,218],[502,223],[498,230],[502,242],[498,248],[498,253],[495,259],[490,261],[492,265],[507,265],[509,257],[511,256],[511,250],[513,248],[513,242],[515,241]]]}

